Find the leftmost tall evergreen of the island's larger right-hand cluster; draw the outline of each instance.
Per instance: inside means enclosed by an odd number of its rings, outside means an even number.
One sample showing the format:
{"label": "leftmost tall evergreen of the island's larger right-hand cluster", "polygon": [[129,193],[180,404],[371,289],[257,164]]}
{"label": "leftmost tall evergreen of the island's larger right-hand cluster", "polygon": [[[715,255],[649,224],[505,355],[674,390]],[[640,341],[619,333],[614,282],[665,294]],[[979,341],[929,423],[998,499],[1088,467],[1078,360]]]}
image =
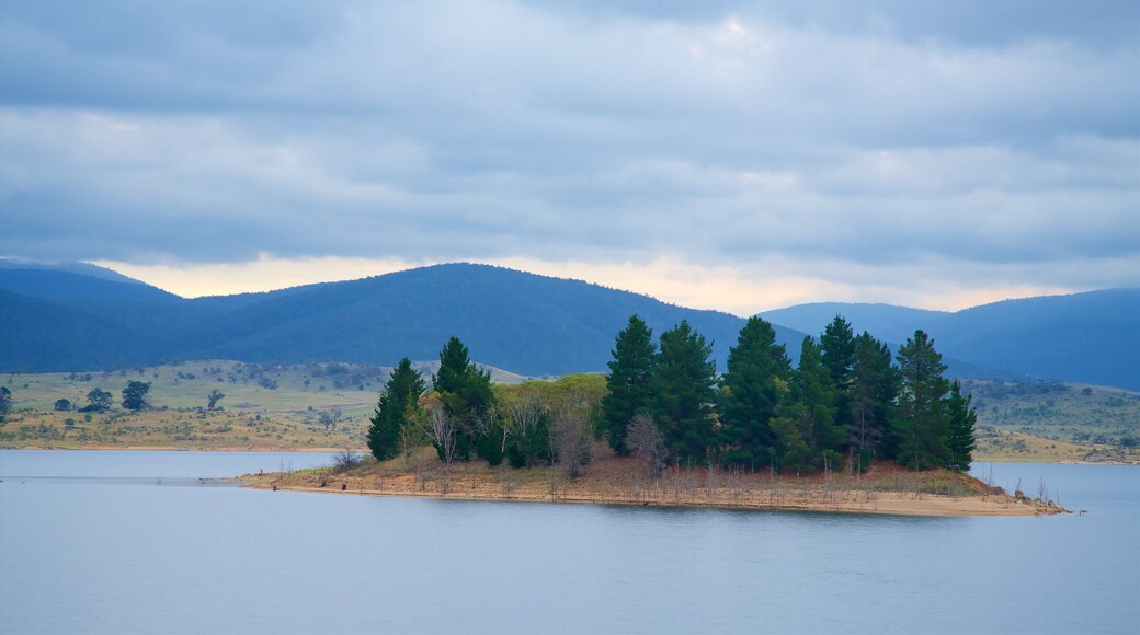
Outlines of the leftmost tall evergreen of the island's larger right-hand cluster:
{"label": "leftmost tall evergreen of the island's larger right-hand cluster", "polygon": [[653,331],[637,315],[618,333],[613,344],[613,361],[605,377],[609,394],[602,398],[602,428],[610,447],[618,454],[629,454],[626,434],[629,422],[648,411],[653,401]]}

